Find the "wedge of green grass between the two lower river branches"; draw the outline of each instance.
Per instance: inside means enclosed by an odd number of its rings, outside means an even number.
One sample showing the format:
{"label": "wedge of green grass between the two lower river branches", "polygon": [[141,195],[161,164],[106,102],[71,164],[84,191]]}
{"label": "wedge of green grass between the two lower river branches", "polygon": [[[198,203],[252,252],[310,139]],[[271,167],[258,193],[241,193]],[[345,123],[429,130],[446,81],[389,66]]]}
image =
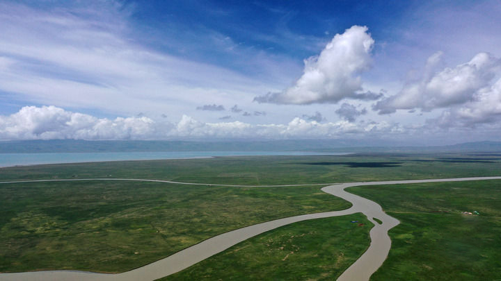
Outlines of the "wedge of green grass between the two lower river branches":
{"label": "wedge of green grass between the two lower river branches", "polygon": [[360,213],[293,223],[160,280],[335,280],[369,247],[370,228]]}

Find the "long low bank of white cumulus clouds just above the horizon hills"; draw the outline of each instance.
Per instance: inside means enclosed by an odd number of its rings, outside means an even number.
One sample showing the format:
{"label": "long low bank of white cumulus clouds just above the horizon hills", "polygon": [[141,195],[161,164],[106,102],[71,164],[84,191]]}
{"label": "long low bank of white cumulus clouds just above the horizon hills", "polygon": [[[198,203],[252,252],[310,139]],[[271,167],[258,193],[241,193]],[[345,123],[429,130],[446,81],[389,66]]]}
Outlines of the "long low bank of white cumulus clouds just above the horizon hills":
{"label": "long low bank of white cumulus clouds just above the horizon hills", "polygon": [[26,106],[0,116],[0,139],[178,139],[178,138],[339,138],[398,132],[385,122],[320,124],[299,117],[288,124],[247,124],[241,121],[206,123],[183,115],[177,124],[148,117],[97,118],[55,106]]}

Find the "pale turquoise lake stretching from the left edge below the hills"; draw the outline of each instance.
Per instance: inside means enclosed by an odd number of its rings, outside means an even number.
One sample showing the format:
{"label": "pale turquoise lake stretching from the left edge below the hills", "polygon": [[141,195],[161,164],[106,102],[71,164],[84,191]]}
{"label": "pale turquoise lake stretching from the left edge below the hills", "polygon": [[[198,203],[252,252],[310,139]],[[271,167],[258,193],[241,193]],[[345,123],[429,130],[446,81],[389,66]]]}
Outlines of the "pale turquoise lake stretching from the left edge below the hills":
{"label": "pale turquoise lake stretching from the left edge below the hills", "polygon": [[259,155],[344,155],[310,151],[161,151],[161,152],[102,152],[102,153],[0,153],[0,167],[35,164],[102,162],[124,160],[161,160],[207,158],[213,156]]}

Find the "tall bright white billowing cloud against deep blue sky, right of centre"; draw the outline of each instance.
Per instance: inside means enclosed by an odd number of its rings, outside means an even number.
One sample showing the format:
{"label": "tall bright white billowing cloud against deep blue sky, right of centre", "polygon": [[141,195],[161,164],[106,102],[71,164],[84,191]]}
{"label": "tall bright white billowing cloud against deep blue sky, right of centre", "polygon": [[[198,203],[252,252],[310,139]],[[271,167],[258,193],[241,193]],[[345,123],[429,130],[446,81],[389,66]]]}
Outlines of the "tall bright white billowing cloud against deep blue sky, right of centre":
{"label": "tall bright white billowing cloud against deep blue sky, right of centre", "polygon": [[[319,56],[305,60],[303,76],[283,92],[255,97],[259,103],[336,103],[362,94],[361,71],[369,68],[374,40],[366,26],[352,26],[336,34]],[[367,94],[360,96],[367,99]]]}

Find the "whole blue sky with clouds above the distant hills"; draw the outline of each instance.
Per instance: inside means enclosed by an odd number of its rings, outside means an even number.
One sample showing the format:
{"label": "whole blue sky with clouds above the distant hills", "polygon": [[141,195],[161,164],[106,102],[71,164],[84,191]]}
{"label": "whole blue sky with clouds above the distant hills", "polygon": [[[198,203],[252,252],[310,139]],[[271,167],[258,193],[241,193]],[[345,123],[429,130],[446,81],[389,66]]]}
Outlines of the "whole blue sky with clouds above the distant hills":
{"label": "whole blue sky with clouds above the distant hills", "polygon": [[0,0],[0,140],[501,137],[500,1]]}

